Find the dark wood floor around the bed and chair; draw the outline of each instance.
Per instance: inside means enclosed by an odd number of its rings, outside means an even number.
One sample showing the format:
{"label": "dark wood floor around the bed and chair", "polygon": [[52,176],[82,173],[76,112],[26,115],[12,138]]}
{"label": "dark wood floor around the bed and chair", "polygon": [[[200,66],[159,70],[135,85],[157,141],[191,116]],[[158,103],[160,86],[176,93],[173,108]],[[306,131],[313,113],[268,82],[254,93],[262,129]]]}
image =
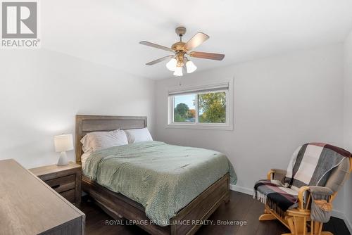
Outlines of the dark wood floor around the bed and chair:
{"label": "dark wood floor around the bed and chair", "polygon": [[[246,221],[246,225],[203,225],[197,234],[249,234],[249,235],[275,235],[289,232],[289,230],[278,221],[259,222],[258,217],[263,212],[263,204],[253,200],[253,198],[244,193],[231,191],[229,203],[223,203],[209,220],[215,223],[222,221]],[[86,234],[146,234],[135,225],[106,225],[106,220],[113,220],[106,215],[103,210],[94,205],[84,197],[80,210],[86,214]],[[336,235],[350,234],[343,220],[332,217],[325,224],[325,231],[331,231]]]}

